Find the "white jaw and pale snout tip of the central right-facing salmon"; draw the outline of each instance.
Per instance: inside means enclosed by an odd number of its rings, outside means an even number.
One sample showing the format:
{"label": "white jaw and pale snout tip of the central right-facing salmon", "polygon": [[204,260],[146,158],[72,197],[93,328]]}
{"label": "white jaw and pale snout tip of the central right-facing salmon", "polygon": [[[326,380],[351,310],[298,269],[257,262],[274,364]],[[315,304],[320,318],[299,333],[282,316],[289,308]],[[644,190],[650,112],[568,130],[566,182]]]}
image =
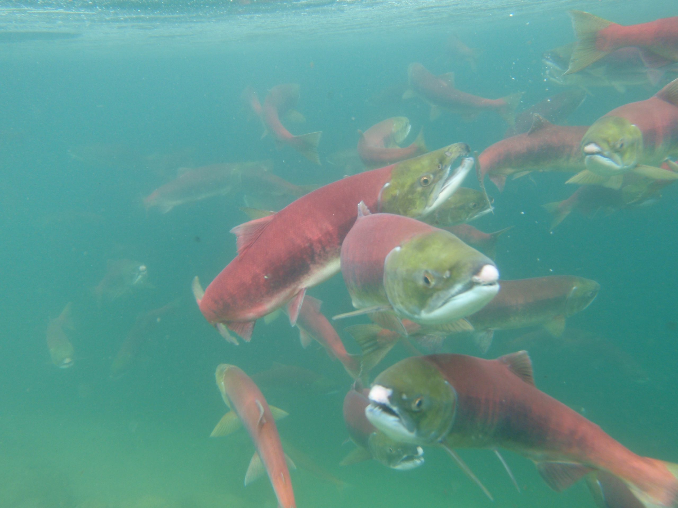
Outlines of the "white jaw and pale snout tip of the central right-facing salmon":
{"label": "white jaw and pale snout tip of the central right-facing salmon", "polygon": [[433,297],[417,316],[422,324],[443,324],[481,310],[499,291],[499,272],[494,265],[483,267],[463,284]]}

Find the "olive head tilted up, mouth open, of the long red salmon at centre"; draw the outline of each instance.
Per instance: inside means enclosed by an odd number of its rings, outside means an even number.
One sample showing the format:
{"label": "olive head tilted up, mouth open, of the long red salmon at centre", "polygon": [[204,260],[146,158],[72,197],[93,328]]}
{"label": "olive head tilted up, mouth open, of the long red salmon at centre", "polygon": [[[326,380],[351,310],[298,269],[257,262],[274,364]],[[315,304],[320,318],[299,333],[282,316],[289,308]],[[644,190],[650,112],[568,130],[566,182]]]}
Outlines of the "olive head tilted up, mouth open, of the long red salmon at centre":
{"label": "olive head tilted up, mouth open, of the long red salmon at centre", "polygon": [[379,210],[426,217],[452,196],[473,168],[468,145],[457,143],[394,165],[379,195]]}

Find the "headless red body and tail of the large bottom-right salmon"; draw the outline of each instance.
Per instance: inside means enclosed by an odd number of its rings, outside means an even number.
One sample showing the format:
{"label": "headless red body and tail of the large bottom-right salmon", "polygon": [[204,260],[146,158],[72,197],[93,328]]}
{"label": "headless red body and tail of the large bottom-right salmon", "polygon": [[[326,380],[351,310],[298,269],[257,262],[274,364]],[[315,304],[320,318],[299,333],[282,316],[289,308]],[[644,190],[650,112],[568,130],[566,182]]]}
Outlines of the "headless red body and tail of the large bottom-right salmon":
{"label": "headless red body and tail of the large bottom-right salmon", "polygon": [[[523,359],[516,361],[518,355]],[[497,360],[456,354],[423,357],[442,373],[456,394],[456,417],[447,443],[452,448],[502,446],[538,465],[565,463],[604,469],[662,505],[672,506],[678,480],[669,469],[660,461],[631,452],[598,425],[537,389],[531,366],[525,368],[521,361],[524,357],[525,352]],[[583,468],[579,475],[589,470]],[[540,467],[540,472],[552,486],[565,488],[568,484],[559,483],[563,478],[553,478],[547,468]],[[570,478],[569,483],[576,479]]]}

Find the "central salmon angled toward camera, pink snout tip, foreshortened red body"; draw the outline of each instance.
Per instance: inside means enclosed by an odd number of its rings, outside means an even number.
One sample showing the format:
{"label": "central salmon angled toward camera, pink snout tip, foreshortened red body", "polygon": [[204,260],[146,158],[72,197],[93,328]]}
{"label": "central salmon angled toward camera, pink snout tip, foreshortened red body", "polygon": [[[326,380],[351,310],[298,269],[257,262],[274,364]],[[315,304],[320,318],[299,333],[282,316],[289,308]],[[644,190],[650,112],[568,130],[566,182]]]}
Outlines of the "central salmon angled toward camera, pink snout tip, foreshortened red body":
{"label": "central salmon angled toward camera, pink snout tip, foreshortened red body", "polygon": [[393,312],[418,324],[450,326],[499,291],[492,260],[454,234],[401,215],[372,215],[364,203],[342,244],[341,269],[358,309],[341,317]]}

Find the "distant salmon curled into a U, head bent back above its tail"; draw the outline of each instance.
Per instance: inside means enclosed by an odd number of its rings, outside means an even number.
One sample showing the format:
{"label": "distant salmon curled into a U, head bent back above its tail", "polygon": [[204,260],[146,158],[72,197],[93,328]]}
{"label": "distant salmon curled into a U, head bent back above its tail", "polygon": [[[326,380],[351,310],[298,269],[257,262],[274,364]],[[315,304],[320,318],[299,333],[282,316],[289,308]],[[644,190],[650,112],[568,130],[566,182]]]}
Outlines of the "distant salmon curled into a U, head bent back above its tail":
{"label": "distant salmon curled into a U, head bent back above its tail", "polygon": [[410,120],[405,117],[386,119],[359,134],[358,154],[365,167],[384,167],[428,151],[423,130],[410,146],[399,146],[410,134]]}

